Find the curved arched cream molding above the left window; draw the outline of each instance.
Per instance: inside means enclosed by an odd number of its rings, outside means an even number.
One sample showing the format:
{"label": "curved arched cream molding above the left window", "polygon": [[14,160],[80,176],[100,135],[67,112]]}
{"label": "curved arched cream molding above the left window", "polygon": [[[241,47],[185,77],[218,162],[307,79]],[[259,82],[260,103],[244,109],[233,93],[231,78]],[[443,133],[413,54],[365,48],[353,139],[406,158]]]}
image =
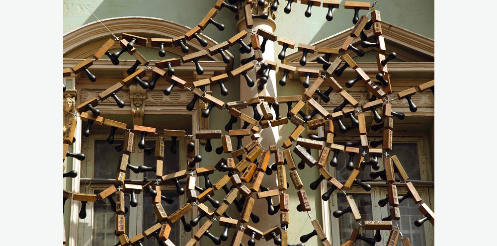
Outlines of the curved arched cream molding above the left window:
{"label": "curved arched cream molding above the left window", "polygon": [[[174,38],[180,35],[184,35],[191,29],[188,26],[183,26],[165,19],[143,16],[108,18],[102,19],[101,22],[105,26],[107,26],[107,28],[109,28],[109,30],[112,31],[112,33],[114,33],[116,36],[119,36],[123,32],[126,32],[142,35],[150,34],[155,37]],[[113,38],[109,34],[109,31],[102,25],[102,23],[100,23],[100,21],[93,21],[66,33],[64,35],[63,41],[64,57],[70,53],[76,52],[76,49],[86,49],[86,47],[84,47],[85,44],[103,40],[105,38]],[[208,50],[210,47],[218,44],[216,41],[205,36],[202,33],[200,33],[199,36],[207,41],[208,44],[206,47],[202,47],[200,43],[198,43],[198,41],[194,39],[192,39],[192,41],[188,41],[187,46],[192,47],[195,50]],[[176,48],[168,49],[168,51],[175,54],[177,53],[177,55],[184,55],[179,52],[179,49]],[[225,53],[233,57],[230,52],[225,51]],[[223,58],[220,54],[211,57],[214,61],[223,62]]]}

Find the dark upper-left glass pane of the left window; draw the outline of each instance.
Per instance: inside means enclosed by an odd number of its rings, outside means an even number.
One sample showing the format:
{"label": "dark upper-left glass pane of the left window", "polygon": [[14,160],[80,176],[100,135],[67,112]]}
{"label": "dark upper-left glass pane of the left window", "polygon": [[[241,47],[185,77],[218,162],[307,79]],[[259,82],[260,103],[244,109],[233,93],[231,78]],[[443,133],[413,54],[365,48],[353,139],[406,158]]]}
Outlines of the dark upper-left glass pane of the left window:
{"label": "dark upper-left glass pane of the left window", "polygon": [[[114,143],[110,145],[106,140],[95,140],[93,178],[116,178],[117,165],[122,152],[116,152],[114,147],[122,143],[122,140],[114,140]],[[126,179],[128,178],[129,169],[126,170]]]}

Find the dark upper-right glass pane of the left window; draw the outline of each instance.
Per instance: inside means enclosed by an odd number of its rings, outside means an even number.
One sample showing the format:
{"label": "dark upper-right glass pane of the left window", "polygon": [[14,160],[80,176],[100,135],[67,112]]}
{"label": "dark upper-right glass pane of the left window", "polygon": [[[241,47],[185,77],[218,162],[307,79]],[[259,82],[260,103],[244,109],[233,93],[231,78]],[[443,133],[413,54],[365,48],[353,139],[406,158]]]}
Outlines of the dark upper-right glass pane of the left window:
{"label": "dark upper-right glass pane of the left window", "polygon": [[[162,168],[163,175],[179,171],[179,141],[176,140],[176,147],[178,148],[178,150],[176,151],[175,154],[172,154],[169,151],[169,149],[171,148],[171,144],[172,144],[171,140],[164,141],[164,160],[163,160],[164,165]],[[154,147],[155,141],[147,141],[146,146],[147,148]],[[151,166],[151,167],[156,166],[157,158],[155,157],[155,151],[152,152],[150,155],[145,155],[143,163],[146,166]],[[147,177],[148,180],[155,180],[156,173],[153,171],[148,171],[146,172],[145,177]]]}

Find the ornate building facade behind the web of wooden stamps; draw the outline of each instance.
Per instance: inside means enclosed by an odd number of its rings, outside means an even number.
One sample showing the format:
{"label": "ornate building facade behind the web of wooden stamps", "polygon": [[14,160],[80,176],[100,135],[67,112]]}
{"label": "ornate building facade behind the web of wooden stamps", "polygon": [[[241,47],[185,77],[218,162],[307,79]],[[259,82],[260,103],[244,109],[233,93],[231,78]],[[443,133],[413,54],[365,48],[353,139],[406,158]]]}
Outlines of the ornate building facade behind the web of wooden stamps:
{"label": "ornate building facade behind the web of wooden stamps", "polygon": [[[91,57],[109,38],[113,38],[107,28],[116,36],[120,36],[123,32],[140,35],[147,38],[174,38],[178,35],[183,35],[193,26],[196,26],[201,18],[214,6],[215,1],[204,0],[188,0],[188,1],[160,1],[160,0],[138,0],[138,1],[115,1],[115,0],[88,0],[82,3],[78,0],[64,0],[64,67],[73,67]],[[372,2],[371,2],[372,3]],[[239,5],[239,3],[237,3]],[[284,37],[295,41],[296,43],[310,44],[319,47],[338,48],[346,36],[349,35],[352,28],[353,10],[340,7],[333,9],[333,20],[327,21],[325,16],[328,8],[313,7],[312,15],[307,18],[304,12],[307,8],[306,4],[301,4],[300,1],[292,4],[292,11],[289,14],[283,12],[283,8],[287,1],[281,0],[276,11],[270,10],[272,1],[268,1],[264,7],[254,9],[256,13],[267,13],[267,20],[254,19],[253,30],[264,29],[274,33],[278,37]],[[390,82],[392,84],[393,94],[404,89],[417,86],[423,82],[428,82],[434,78],[434,6],[432,1],[407,1],[407,0],[378,0],[375,9],[381,11],[382,21],[381,27],[385,43],[387,46],[387,55],[391,52],[397,54],[397,58],[388,63]],[[93,14],[100,20],[97,21]],[[359,14],[367,14],[367,10],[361,10]],[[218,11],[215,18],[216,21],[223,23],[224,31],[219,31],[215,26],[209,25],[199,36],[207,41],[207,46],[203,47],[200,43],[192,39],[187,42],[190,53],[200,50],[205,50],[215,46],[218,43],[224,42],[241,30],[249,30],[245,26],[244,12],[229,11],[223,8]],[[102,25],[102,23],[105,25]],[[366,32],[368,37],[371,37],[372,30]],[[249,43],[249,38],[244,39]],[[356,39],[352,43],[355,47],[361,48],[361,40]],[[119,49],[117,42],[111,48],[111,53]],[[236,69],[240,66],[240,60],[253,55],[241,54],[240,45],[234,45],[228,49],[227,55],[231,57],[231,62],[225,64],[221,55],[208,56],[199,61],[199,64],[204,69],[202,75],[195,73],[195,65],[193,63],[182,64],[175,67],[175,75],[186,81],[186,86],[192,86],[193,82],[202,79],[208,79],[213,76],[224,74],[227,71]],[[155,62],[168,59],[182,57],[185,54],[180,47],[166,47],[166,56],[160,57],[158,49],[151,47],[150,43],[147,47],[137,47],[137,50],[145,56],[152,66]],[[265,45],[263,58],[265,60],[274,61],[276,63],[284,63],[290,66],[301,68],[299,60],[302,52],[297,49],[288,49],[285,60],[278,60],[278,54],[281,51],[281,46],[277,42],[267,41]],[[365,52],[363,57],[358,57],[354,52],[348,51],[354,61],[360,68],[369,75],[370,78],[375,78],[377,73],[376,55],[377,49],[374,47],[362,49]],[[316,62],[316,58],[321,54],[309,54],[307,56],[307,64],[305,68],[322,70],[322,65]],[[135,64],[136,58],[129,54],[121,55],[119,65],[115,66],[110,60],[106,60],[105,56],[93,63],[90,71],[96,76],[96,82],[90,82],[83,73],[75,76],[65,77],[64,83],[67,90],[64,92],[64,103],[70,107],[75,107],[80,103],[95,97],[109,86],[122,81],[127,77],[126,71]],[[334,59],[331,57],[331,60]],[[139,68],[146,68],[139,66]],[[255,70],[248,73],[249,77],[256,81]],[[147,73],[144,81],[148,80],[151,73]],[[302,86],[303,78],[293,75],[287,79],[287,84],[281,86],[278,81],[282,78],[283,73],[280,71],[270,71],[269,80],[266,84],[265,93],[268,96],[286,96],[295,94],[304,94],[306,89]],[[338,83],[344,86],[346,81],[355,78],[354,71],[350,68],[345,69],[343,74],[335,78]],[[314,82],[311,79],[310,82]],[[197,130],[219,130],[223,134],[225,125],[230,120],[229,114],[219,110],[213,111],[207,119],[201,117],[201,113],[208,106],[203,101],[195,103],[193,110],[186,110],[186,105],[190,103],[193,94],[186,89],[174,88],[169,95],[165,95],[163,90],[169,86],[163,80],[159,80],[153,90],[144,90],[140,86],[130,86],[124,88],[117,93],[117,97],[124,101],[125,106],[119,108],[116,106],[114,99],[109,98],[99,103],[98,109],[101,116],[104,118],[113,119],[127,123],[128,126],[144,125],[155,127],[159,132],[162,129],[184,130],[187,135],[192,135]],[[247,82],[243,77],[230,80],[225,83],[229,93],[226,96],[221,95],[220,87],[217,85],[207,86],[206,90],[216,98],[220,98],[225,102],[246,100],[257,95],[254,88],[248,88]],[[320,87],[321,91],[326,91],[328,85]],[[366,87],[362,84],[355,84],[348,89],[359,105],[369,101],[370,95]],[[320,96],[314,94],[313,97],[326,110],[332,112],[333,108],[340,105],[343,99],[339,94],[331,92],[330,101],[325,102]],[[413,101],[417,106],[417,111],[412,113],[409,111],[407,101],[396,100],[392,101],[392,110],[398,113],[404,113],[406,118],[399,120],[394,118],[394,143],[393,151],[389,154],[397,155],[403,165],[408,166],[408,174],[410,180],[413,181],[419,195],[433,211],[434,211],[434,95],[431,90],[425,90],[416,93]],[[216,109],[213,109],[216,110]],[[286,111],[286,105],[281,103],[280,114],[283,116]],[[309,114],[312,109],[307,106],[304,110]],[[242,110],[242,112],[252,115],[252,109]],[[366,112],[366,122],[369,125],[373,122],[372,113]],[[66,119],[69,116],[66,115]],[[351,124],[349,119],[343,120],[344,124]],[[66,122],[64,122],[66,125]],[[75,193],[97,194],[109,184],[114,183],[116,171],[114,163],[119,162],[119,154],[114,150],[116,145],[122,143],[124,139],[124,131],[116,131],[115,140],[112,145],[106,143],[109,134],[109,129],[103,126],[93,125],[91,127],[91,135],[83,137],[82,131],[86,128],[87,123],[79,120],[77,122],[76,142],[70,145],[72,153],[83,153],[86,155],[84,161],[78,161],[73,158],[67,158],[65,162],[66,170],[77,170],[78,176],[73,179],[65,178],[64,189],[71,190]],[[374,125],[374,124],[373,124]],[[241,124],[237,122],[233,129],[240,129]],[[268,130],[269,129],[269,130]],[[267,130],[267,131],[266,131]],[[261,134],[263,144],[268,146],[276,144],[281,146],[293,130],[293,127],[280,126],[275,128],[264,129]],[[307,129],[305,136],[315,134],[324,136],[324,132],[320,130],[313,131]],[[339,134],[335,137],[335,142],[345,143],[359,141],[357,129],[348,131],[345,134]],[[368,140],[376,141],[382,139],[381,131],[372,131],[368,129]],[[146,146],[153,146],[153,137],[147,137]],[[166,138],[166,150],[173,145],[173,139]],[[215,151],[206,152],[205,143],[195,140],[198,147],[196,154],[202,156],[202,162],[199,166],[208,166],[218,163],[218,161],[226,156],[218,155]],[[249,138],[243,140],[243,144],[247,144]],[[165,160],[164,174],[172,173],[185,168],[187,160],[185,158],[186,145],[185,139],[174,140],[177,146],[177,152],[170,155]],[[135,145],[137,145],[135,141]],[[217,148],[221,146],[221,141],[212,141],[212,146]],[[136,146],[135,146],[136,147]],[[135,148],[135,152],[130,155],[130,164],[154,166],[155,157],[149,155],[146,150]],[[360,152],[363,149],[360,148]],[[319,153],[312,151],[312,156],[317,158]],[[300,159],[294,155],[296,161]],[[366,159],[369,158],[366,155]],[[344,183],[350,171],[344,169],[344,164],[348,159],[347,156],[340,154],[338,157],[338,166],[329,168],[331,175]],[[383,159],[379,158],[381,169],[383,169]],[[368,159],[367,159],[368,160]],[[273,158],[270,163],[273,163]],[[109,165],[111,164],[111,165]],[[166,168],[167,166],[167,168]],[[166,170],[167,169],[167,170]],[[353,186],[348,194],[352,194],[354,199],[361,200],[359,210],[365,220],[381,220],[389,215],[387,206],[381,207],[378,201],[384,199],[387,194],[386,184],[379,177],[372,178],[370,175],[370,167],[366,167],[366,171],[359,176],[364,183],[370,184],[372,189],[364,191],[359,186]],[[374,171],[374,170],[371,170]],[[323,226],[323,229],[330,240],[332,246],[339,246],[348,239],[353,229],[353,218],[344,215],[340,218],[334,218],[331,214],[335,210],[346,208],[345,196],[339,192],[333,192],[330,199],[324,201],[322,195],[329,190],[327,182],[321,182],[317,189],[312,190],[309,187],[313,181],[318,179],[319,172],[308,166],[304,170],[299,170],[301,179],[304,181],[305,188],[308,192],[312,210],[310,216],[312,219],[318,219]],[[222,174],[214,173],[210,175],[210,179],[214,182],[218,180]],[[274,176],[274,175],[273,175]],[[155,179],[154,173],[134,173],[128,169],[126,179],[136,182]],[[288,177],[288,180],[290,178]],[[199,186],[203,186],[204,179],[197,178]],[[185,182],[181,182],[185,185]],[[263,186],[268,188],[277,187],[274,178],[265,177]],[[174,212],[182,204],[186,202],[186,198],[178,196],[175,192],[175,186],[161,185],[162,193],[166,197],[173,198],[174,202],[165,206],[167,214]],[[290,184],[289,189],[293,189]],[[405,194],[407,191],[399,185],[399,194]],[[299,204],[299,199],[296,192],[290,194],[290,218],[292,221],[289,227],[288,241],[292,244],[300,243],[299,237],[310,233],[312,230],[311,220],[305,213],[296,211],[295,208]],[[222,200],[225,193],[218,192],[214,195],[217,200]],[[148,194],[144,192],[137,194],[138,206],[128,206],[128,211],[125,214],[127,234],[130,236],[136,235],[143,230],[149,228],[156,223],[155,213],[151,212],[152,204],[150,199],[145,199]],[[129,196],[126,197],[126,204],[129,204]],[[272,199],[274,205],[278,204],[277,198]],[[66,230],[66,245],[116,245],[118,240],[114,235],[114,217],[112,204],[109,200],[99,200],[97,202],[87,203],[84,211],[86,217],[80,219],[79,214],[82,210],[82,204],[78,201],[68,200],[64,206],[64,221]],[[269,228],[279,224],[279,213],[269,216],[267,214],[267,203],[264,199],[257,200],[255,203],[255,214],[259,216],[259,225],[267,225],[263,228]],[[404,237],[409,237],[413,245],[434,245],[434,228],[431,224],[425,223],[422,227],[415,227],[414,220],[422,218],[422,215],[417,210],[414,202],[411,199],[406,199],[400,205],[401,220],[399,227]],[[237,214],[235,208],[230,208],[228,214]],[[186,221],[194,218],[198,212],[196,210],[189,214]],[[205,219],[204,219],[205,220]],[[199,223],[200,224],[200,223]],[[223,232],[223,227],[213,226],[210,230],[213,235],[219,236]],[[175,245],[185,245],[193,236],[198,226],[194,227],[191,232],[184,232],[183,225],[179,222],[173,224],[171,230],[171,241]],[[230,230],[230,239],[235,230]],[[373,231],[363,231],[365,237],[373,238]],[[383,246],[388,238],[388,233],[383,233],[382,240],[377,243],[377,246]],[[231,240],[223,242],[229,244]],[[247,242],[248,237],[244,236],[242,242]],[[205,237],[200,241],[201,245],[211,245],[212,242]],[[272,245],[272,241],[257,242],[258,246]],[[366,245],[358,241],[354,245]],[[147,240],[144,245],[157,245],[155,240]],[[320,246],[322,243],[317,237],[306,242],[306,246]]]}

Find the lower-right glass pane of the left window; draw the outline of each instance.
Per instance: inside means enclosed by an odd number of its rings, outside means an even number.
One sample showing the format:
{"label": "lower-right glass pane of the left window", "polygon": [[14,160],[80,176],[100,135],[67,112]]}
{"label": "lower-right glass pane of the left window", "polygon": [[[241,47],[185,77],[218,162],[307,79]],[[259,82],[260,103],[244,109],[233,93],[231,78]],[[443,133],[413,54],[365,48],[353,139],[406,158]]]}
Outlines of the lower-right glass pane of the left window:
{"label": "lower-right glass pane of the left window", "polygon": [[[155,175],[155,174],[154,174]],[[179,209],[179,197],[176,193],[176,190],[163,190],[162,195],[166,197],[171,197],[174,199],[172,204],[167,204],[165,201],[162,201],[162,206],[166,211],[167,215],[174,213],[174,211]],[[148,194],[144,194],[143,199],[143,230],[149,229],[151,226],[157,224],[157,216],[154,212],[154,205],[152,204],[152,198]],[[174,245],[179,245],[179,224],[181,221],[176,221],[173,224],[169,224],[171,226],[171,233],[169,234],[169,239],[172,241]],[[143,246],[159,246],[157,243],[157,239],[154,237],[146,240],[143,243]]]}

